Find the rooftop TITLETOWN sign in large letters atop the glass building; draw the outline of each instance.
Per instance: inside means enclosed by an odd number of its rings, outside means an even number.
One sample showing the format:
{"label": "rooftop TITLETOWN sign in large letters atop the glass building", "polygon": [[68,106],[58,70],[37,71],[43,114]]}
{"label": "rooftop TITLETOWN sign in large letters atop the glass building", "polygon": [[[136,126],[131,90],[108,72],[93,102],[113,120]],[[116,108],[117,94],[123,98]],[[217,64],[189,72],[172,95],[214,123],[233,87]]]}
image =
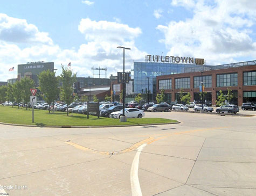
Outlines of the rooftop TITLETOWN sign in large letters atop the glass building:
{"label": "rooftop TITLETOWN sign in large letters atop the glass building", "polygon": [[160,56],[160,55],[147,55],[146,62],[163,62],[163,63],[189,63],[189,64],[204,64],[204,59],[196,59],[191,57],[179,56]]}

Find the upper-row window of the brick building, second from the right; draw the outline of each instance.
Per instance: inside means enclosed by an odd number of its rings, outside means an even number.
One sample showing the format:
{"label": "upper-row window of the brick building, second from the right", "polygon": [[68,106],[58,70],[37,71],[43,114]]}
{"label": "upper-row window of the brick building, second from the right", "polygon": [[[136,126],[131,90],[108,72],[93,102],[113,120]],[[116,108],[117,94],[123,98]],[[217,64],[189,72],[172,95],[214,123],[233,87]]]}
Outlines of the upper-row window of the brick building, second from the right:
{"label": "upper-row window of the brick building, second from the right", "polygon": [[234,74],[218,74],[216,76],[216,86],[237,86],[237,73]]}

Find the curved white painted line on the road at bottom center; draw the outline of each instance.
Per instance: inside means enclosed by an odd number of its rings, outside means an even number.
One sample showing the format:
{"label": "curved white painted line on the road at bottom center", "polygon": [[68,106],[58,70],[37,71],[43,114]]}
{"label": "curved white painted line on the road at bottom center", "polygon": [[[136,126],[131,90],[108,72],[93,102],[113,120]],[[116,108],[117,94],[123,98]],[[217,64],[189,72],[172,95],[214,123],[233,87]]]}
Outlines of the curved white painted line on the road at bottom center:
{"label": "curved white painted line on the road at bottom center", "polygon": [[138,171],[139,171],[140,154],[143,148],[146,146],[147,146],[147,143],[144,143],[139,148],[137,148],[137,153],[133,159],[132,168],[130,169],[130,185],[132,187],[133,196],[142,196]]}

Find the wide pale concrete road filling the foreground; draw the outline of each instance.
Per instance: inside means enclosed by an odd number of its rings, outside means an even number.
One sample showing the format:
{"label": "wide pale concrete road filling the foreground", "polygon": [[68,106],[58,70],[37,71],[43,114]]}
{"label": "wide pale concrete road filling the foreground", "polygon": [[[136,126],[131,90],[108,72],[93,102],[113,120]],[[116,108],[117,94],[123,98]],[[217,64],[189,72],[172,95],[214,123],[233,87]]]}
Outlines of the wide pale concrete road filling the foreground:
{"label": "wide pale concrete road filling the foreground", "polygon": [[146,117],[181,124],[0,125],[0,194],[256,195],[255,116],[147,112]]}

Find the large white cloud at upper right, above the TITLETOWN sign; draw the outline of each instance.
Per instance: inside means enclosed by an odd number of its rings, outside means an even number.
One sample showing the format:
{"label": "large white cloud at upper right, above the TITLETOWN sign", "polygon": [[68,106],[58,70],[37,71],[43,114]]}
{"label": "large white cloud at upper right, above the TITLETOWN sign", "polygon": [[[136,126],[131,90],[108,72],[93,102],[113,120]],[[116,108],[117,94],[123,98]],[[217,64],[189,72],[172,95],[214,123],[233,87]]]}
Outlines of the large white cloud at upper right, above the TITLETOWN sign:
{"label": "large white cloud at upper right, above the TITLETOWN sign", "polygon": [[202,57],[207,64],[230,63],[244,56],[255,58],[251,28],[256,23],[254,1],[173,0],[171,4],[189,9],[193,16],[156,27],[164,34],[160,42],[169,48],[168,55]]}

